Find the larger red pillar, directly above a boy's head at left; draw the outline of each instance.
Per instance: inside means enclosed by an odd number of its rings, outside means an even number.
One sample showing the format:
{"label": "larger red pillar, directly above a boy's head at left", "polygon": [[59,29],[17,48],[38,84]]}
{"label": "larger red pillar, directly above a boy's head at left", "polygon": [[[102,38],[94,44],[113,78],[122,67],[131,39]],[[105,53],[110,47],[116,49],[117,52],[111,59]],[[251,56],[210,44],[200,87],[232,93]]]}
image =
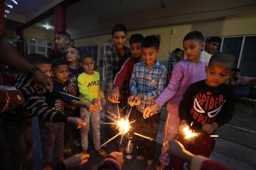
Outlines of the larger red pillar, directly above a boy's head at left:
{"label": "larger red pillar, directly above a boy's head at left", "polygon": [[[54,34],[59,31],[66,31],[66,8],[56,5],[54,7],[54,14],[55,14],[55,23],[54,23]],[[55,51],[59,49],[57,46],[54,46]]]}

